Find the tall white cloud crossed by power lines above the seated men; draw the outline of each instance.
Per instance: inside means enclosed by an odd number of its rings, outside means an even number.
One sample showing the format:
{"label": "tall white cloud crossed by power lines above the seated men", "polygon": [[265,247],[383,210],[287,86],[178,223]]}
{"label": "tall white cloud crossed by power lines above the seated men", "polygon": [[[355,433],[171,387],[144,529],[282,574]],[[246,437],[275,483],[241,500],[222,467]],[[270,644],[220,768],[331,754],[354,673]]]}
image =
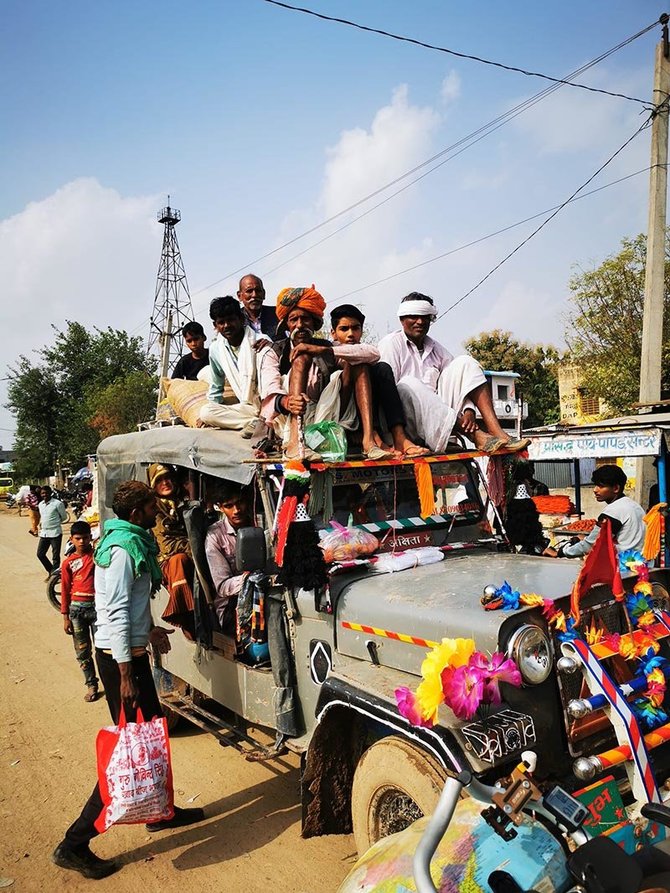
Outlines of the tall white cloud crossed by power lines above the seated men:
{"label": "tall white cloud crossed by power lines above the seated men", "polygon": [[[285,216],[281,238],[293,235],[298,221],[307,228],[330,217],[423,161],[431,153],[432,136],[440,120],[433,108],[412,105],[406,86],[397,87],[390,104],[376,112],[369,128],[343,131],[337,144],[326,150],[324,178],[318,197],[311,208],[295,209]],[[292,246],[293,252],[298,253],[309,243],[317,242],[388,194],[384,192],[340,218],[330,229]],[[303,257],[282,264],[275,272],[277,263],[291,257],[292,251],[287,249],[275,263],[266,267],[265,272],[271,274],[272,281],[279,287],[281,284],[315,282],[332,305],[352,288],[381,279],[430,256],[433,250],[430,238],[417,235],[414,219],[411,226],[407,223],[412,218],[410,211],[414,202],[416,193],[407,190]],[[395,290],[397,286],[391,284],[391,288]],[[371,314],[374,310],[377,318],[381,316],[378,331],[386,330],[386,317],[392,318],[388,307],[380,306],[383,292],[384,289],[378,289],[372,297],[363,292],[352,298],[361,303],[366,313]]]}

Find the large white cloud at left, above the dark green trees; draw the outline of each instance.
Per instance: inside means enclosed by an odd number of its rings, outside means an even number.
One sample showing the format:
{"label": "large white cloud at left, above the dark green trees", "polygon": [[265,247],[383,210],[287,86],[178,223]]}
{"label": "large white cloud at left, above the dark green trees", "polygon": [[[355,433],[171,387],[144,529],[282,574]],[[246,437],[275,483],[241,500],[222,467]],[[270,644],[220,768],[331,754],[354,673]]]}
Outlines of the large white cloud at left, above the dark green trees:
{"label": "large white cloud at left, above the dark green trees", "polygon": [[[53,341],[67,320],[148,334],[161,244],[157,196],[124,197],[94,178],[67,183],[0,221],[4,357]],[[0,402],[4,402],[0,395]],[[6,411],[0,426],[14,427]],[[4,440],[8,440],[8,435]]]}

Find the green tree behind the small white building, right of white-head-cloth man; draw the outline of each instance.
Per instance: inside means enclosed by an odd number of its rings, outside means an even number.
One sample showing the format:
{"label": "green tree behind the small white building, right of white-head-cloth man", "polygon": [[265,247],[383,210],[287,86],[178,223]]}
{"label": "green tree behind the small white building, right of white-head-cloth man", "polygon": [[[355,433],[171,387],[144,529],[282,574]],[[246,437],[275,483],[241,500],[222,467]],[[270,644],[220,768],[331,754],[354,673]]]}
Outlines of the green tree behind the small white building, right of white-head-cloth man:
{"label": "green tree behind the small white building, right of white-head-cloth man", "polygon": [[560,418],[555,347],[524,344],[511,332],[494,329],[465,342],[468,353],[484,367],[496,372],[517,372],[517,389],[528,404],[526,425],[550,425]]}

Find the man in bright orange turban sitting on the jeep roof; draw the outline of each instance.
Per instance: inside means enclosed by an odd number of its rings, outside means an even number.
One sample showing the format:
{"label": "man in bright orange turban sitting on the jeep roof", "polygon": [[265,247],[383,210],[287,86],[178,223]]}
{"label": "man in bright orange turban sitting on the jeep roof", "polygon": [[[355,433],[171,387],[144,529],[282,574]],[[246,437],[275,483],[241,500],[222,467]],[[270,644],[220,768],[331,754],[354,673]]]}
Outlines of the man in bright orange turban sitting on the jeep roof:
{"label": "man in bright orange turban sitting on the jeep roof", "polygon": [[[379,352],[369,344],[331,344],[314,333],[323,325],[326,302],[312,288],[285,288],[277,296],[277,317],[289,337],[275,341],[261,357],[263,417],[282,437],[284,455],[300,454],[299,419],[338,422],[362,429],[362,447],[370,459],[394,453],[375,442],[369,366]],[[316,458],[304,449],[305,458]]]}

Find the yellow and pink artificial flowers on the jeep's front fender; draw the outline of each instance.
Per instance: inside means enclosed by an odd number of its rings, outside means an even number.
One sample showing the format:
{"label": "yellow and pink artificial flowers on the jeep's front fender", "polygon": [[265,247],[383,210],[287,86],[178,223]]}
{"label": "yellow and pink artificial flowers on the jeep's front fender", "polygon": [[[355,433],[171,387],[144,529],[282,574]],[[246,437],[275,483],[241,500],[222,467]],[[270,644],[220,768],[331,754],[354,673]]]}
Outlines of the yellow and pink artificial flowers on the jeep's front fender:
{"label": "yellow and pink artificial flowers on the jeep's front fender", "polygon": [[431,728],[441,704],[459,719],[472,719],[501,701],[501,682],[521,685],[521,673],[513,660],[496,652],[487,657],[475,651],[472,639],[442,639],[421,664],[422,681],[416,692],[395,691],[398,711],[413,725]]}

